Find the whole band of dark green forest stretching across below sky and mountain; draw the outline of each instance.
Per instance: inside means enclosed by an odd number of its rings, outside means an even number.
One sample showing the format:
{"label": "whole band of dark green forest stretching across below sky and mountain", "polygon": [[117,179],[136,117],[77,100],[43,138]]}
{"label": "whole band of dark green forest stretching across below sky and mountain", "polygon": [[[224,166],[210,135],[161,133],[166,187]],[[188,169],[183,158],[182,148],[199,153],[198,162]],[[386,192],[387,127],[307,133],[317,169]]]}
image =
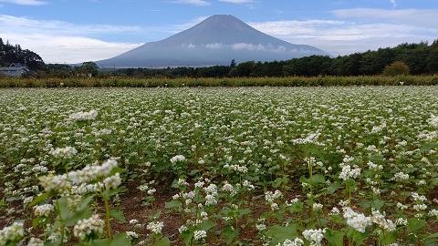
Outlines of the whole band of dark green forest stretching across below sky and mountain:
{"label": "whole band of dark green forest stretching across below sky and mountain", "polygon": [[[237,58],[237,57],[236,57]],[[433,44],[404,43],[395,47],[368,50],[348,56],[305,56],[286,61],[246,61],[214,67],[98,67],[94,62],[82,66],[45,64],[36,53],[19,45],[4,43],[0,38],[0,67],[11,63],[26,64],[36,77],[71,77],[91,74],[93,77],[316,77],[373,75],[433,75],[438,73],[438,39]]]}

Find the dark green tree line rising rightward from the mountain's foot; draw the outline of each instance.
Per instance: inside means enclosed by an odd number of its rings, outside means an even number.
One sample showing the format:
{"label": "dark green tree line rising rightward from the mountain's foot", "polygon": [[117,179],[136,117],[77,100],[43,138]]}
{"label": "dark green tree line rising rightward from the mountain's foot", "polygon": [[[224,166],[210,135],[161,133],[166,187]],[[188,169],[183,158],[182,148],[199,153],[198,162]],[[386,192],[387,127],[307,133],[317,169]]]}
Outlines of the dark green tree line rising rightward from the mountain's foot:
{"label": "dark green tree line rising rightward from the mountain's foot", "polygon": [[214,67],[126,68],[128,77],[318,77],[433,75],[438,73],[438,40],[432,45],[404,43],[348,56],[305,56],[285,61],[246,61]]}

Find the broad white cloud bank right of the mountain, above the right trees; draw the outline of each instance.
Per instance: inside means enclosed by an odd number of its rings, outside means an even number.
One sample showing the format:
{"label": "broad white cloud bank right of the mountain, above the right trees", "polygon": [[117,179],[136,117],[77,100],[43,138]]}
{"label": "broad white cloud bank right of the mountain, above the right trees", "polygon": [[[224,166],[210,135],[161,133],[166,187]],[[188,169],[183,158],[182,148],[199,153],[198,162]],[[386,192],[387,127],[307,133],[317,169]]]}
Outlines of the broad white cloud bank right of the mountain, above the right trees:
{"label": "broad white cloud bank right of the mountain, above the right trees", "polygon": [[438,36],[437,10],[341,9],[332,20],[248,23],[293,44],[317,46],[334,55],[349,55],[401,43],[433,42]]}

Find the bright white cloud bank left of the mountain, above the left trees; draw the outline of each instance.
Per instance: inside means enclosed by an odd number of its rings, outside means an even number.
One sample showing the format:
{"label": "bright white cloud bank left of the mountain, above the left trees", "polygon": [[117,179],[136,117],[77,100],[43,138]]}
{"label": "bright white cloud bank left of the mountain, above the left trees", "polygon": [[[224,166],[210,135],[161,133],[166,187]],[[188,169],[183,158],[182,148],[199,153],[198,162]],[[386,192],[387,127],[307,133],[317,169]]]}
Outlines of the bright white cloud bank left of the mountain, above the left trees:
{"label": "bright white cloud bank left of the mountain, above the left trees", "polygon": [[39,21],[0,15],[4,41],[34,51],[46,63],[80,63],[120,55],[140,43],[104,42],[86,37],[99,34],[141,32],[138,26],[81,26],[59,21]]}

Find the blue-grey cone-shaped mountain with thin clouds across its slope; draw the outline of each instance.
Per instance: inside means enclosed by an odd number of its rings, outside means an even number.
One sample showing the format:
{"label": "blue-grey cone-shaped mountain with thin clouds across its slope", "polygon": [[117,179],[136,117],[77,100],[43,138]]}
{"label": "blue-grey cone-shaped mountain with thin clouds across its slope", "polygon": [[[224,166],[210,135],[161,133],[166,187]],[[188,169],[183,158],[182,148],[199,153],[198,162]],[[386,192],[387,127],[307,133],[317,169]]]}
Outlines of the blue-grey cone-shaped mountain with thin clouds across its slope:
{"label": "blue-grey cone-shaped mountain with thin clouds across its slope", "polygon": [[146,43],[120,56],[97,61],[99,67],[207,67],[245,61],[287,60],[327,53],[268,36],[233,15],[213,15],[181,33]]}

